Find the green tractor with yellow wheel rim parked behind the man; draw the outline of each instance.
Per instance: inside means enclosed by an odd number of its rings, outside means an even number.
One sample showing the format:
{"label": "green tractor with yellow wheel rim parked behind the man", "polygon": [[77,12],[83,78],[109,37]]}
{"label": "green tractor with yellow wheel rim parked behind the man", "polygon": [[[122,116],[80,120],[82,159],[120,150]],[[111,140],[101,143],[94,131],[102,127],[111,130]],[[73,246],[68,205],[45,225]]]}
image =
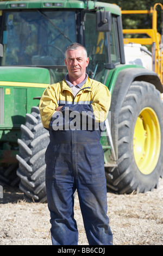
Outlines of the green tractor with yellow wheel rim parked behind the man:
{"label": "green tractor with yellow wheel rim parked behind the man", "polygon": [[126,64],[121,9],[77,0],[0,3],[0,184],[16,185],[27,200],[46,202],[45,151],[39,100],[67,74],[66,47],[87,48],[87,74],[112,95],[101,138],[109,190],[150,191],[163,163],[162,83],[156,72]]}

